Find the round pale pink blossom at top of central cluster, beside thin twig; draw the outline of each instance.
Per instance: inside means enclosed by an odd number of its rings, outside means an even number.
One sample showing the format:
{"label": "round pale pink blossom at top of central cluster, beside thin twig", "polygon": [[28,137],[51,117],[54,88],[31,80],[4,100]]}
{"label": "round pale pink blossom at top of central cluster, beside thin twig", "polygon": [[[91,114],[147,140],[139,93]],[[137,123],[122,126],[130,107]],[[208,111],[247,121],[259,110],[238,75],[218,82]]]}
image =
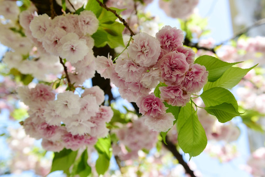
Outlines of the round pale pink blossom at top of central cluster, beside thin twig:
{"label": "round pale pink blossom at top of central cluster, beside thin twig", "polygon": [[144,32],[133,36],[133,43],[128,47],[129,56],[134,62],[146,67],[158,61],[160,51],[159,41]]}

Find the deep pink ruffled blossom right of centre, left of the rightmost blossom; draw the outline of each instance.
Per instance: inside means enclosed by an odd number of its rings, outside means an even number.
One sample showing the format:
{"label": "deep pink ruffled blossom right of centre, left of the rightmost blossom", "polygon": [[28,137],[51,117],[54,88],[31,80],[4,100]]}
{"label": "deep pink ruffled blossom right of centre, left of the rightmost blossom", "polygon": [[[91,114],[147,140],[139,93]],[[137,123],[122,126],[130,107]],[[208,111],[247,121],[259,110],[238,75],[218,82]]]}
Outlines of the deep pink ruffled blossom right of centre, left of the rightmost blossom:
{"label": "deep pink ruffled blossom right of centre, left of the rightmost blossom", "polygon": [[159,59],[159,68],[161,79],[167,85],[176,85],[184,80],[189,65],[183,53],[173,51]]}

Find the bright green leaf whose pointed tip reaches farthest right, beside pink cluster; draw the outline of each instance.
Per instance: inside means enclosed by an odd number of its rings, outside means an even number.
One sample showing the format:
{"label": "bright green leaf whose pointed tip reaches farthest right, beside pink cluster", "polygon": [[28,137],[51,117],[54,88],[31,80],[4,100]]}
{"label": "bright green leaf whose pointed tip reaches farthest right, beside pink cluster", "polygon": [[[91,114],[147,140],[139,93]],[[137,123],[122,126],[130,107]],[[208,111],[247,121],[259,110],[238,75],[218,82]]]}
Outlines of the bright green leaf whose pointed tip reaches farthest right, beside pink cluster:
{"label": "bright green leaf whose pointed tip reaches farthest right, beside pink cluster", "polygon": [[247,74],[248,71],[250,71],[257,65],[258,64],[248,69],[242,69],[239,67],[230,67],[223,73],[223,75],[219,79],[217,79],[214,82],[208,82],[203,89],[208,90],[213,87],[232,89],[239,83],[239,81]]}

